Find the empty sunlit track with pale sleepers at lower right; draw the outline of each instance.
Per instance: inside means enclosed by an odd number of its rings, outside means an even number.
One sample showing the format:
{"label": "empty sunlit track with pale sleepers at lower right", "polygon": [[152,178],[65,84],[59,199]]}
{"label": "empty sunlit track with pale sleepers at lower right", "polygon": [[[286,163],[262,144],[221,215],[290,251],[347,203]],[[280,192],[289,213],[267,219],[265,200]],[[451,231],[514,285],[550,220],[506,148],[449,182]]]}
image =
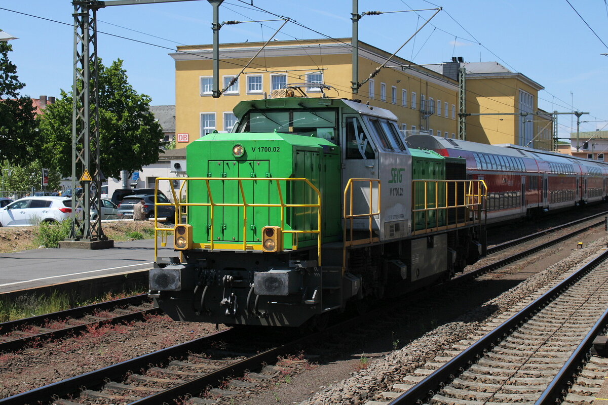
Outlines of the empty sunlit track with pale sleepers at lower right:
{"label": "empty sunlit track with pale sleepers at lower right", "polygon": [[[608,322],[607,258],[608,250],[485,335],[458,342],[395,384],[382,393],[386,401],[367,404],[555,403]],[[608,362],[589,364],[587,377],[603,380]]]}

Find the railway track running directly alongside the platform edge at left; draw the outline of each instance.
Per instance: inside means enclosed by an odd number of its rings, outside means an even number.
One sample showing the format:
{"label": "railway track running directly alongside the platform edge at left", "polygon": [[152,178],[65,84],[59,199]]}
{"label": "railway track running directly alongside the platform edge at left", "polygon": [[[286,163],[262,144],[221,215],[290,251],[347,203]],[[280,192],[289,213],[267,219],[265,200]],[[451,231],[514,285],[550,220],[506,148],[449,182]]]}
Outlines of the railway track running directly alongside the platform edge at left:
{"label": "railway track running directly alongside the platform edge at left", "polygon": [[145,314],[159,313],[148,298],[139,294],[98,304],[58,311],[47,315],[0,324],[0,352],[23,349],[33,342],[58,339],[85,332],[100,323],[119,324],[143,319]]}

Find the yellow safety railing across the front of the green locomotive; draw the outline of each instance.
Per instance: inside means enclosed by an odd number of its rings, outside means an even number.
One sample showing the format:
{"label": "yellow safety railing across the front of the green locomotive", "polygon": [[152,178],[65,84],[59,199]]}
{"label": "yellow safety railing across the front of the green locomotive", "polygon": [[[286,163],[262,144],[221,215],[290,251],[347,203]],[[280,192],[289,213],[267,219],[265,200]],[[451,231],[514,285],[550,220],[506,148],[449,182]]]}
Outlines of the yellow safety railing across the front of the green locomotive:
{"label": "yellow safety railing across the front of the green locomotive", "polygon": [[[157,237],[160,234],[161,236],[161,245],[165,246],[167,242],[168,234],[173,231],[173,229],[167,228],[159,228],[157,223],[157,207],[158,206],[174,206],[175,207],[175,223],[181,223],[182,219],[182,206],[188,209],[190,206],[208,206],[210,207],[210,240],[209,243],[205,243],[202,247],[213,250],[215,248],[229,248],[232,250],[240,248],[241,250],[262,250],[261,243],[259,245],[251,245],[247,244],[247,208],[249,207],[277,207],[280,208],[281,211],[281,230],[284,234],[292,234],[292,248],[293,250],[297,250],[298,245],[298,235],[304,233],[313,233],[317,234],[317,256],[319,265],[321,264],[321,192],[317,189],[313,183],[311,183],[308,179],[300,178],[300,177],[179,177],[179,180],[184,180],[181,182],[181,186],[179,187],[179,191],[176,193],[176,188],[173,186],[173,180],[176,180],[174,177],[158,177],[156,179],[156,196],[158,195],[158,186],[159,182],[167,181],[170,186],[171,196],[173,197],[173,202],[171,203],[159,203],[154,197],[154,256],[157,256]],[[238,188],[240,191],[240,196],[243,202],[241,203],[219,203],[215,202],[213,199],[210,183],[211,182],[224,182],[224,181],[236,181],[238,182]],[[277,185],[278,192],[278,203],[247,203],[247,196],[245,195],[243,189],[243,182],[275,182]],[[185,201],[188,201],[187,193],[188,188],[187,184],[192,182],[204,182],[207,189],[207,198],[209,199],[208,203],[193,203],[193,202],[182,202],[181,196],[185,196]],[[308,185],[309,188],[313,190],[313,192],[317,196],[317,203],[313,204],[288,204],[285,203],[283,199],[283,190],[281,188],[280,182],[302,182]],[[192,186],[192,185],[191,185]],[[185,188],[185,193],[184,193]],[[213,210],[215,207],[223,207],[223,206],[237,206],[243,207],[243,243],[223,243],[223,242],[214,242],[214,229],[213,225],[214,216]],[[317,208],[317,229],[316,230],[285,230],[285,208]],[[192,224],[191,224],[192,225]],[[272,225],[272,224],[268,224]],[[196,226],[193,225],[193,226]],[[202,224],[201,224],[202,226]],[[294,235],[295,235],[295,243],[294,243]]]}

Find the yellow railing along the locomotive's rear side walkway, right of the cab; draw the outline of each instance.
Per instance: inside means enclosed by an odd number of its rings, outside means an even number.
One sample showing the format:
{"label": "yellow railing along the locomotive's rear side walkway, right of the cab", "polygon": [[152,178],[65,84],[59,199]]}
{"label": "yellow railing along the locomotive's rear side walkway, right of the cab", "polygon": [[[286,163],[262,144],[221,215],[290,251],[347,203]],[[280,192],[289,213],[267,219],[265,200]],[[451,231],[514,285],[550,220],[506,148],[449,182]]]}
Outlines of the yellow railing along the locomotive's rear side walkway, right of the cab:
{"label": "yellow railing along the locomotive's rear side walkway, right of the cab", "polygon": [[[454,186],[454,192],[448,191],[449,185]],[[420,188],[424,197],[417,195]],[[429,194],[434,198],[429,199]],[[483,180],[412,180],[412,235],[482,223],[487,194],[488,188]],[[423,207],[416,208],[420,205]],[[459,215],[459,211],[463,214]],[[420,216],[416,215],[419,213],[424,214],[421,229],[418,229],[420,224],[417,222]],[[434,220],[429,218],[430,213],[434,213]],[[454,217],[450,217],[450,213],[454,213]]]}

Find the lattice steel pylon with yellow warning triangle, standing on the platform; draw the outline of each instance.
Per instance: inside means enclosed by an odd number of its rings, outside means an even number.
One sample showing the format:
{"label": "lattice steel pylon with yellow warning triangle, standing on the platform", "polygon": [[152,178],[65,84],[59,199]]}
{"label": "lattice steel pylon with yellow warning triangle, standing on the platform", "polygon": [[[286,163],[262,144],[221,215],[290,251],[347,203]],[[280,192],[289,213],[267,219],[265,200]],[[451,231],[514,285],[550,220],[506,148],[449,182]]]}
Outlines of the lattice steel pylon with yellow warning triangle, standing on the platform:
{"label": "lattice steel pylon with yellow warning triangle, standing on the platform", "polygon": [[[72,229],[69,240],[108,240],[101,222],[97,86],[98,1],[74,1],[74,87],[72,89]],[[91,181],[86,180],[89,174]],[[83,192],[77,196],[76,186]],[[91,222],[91,209],[97,212]],[[80,220],[81,213],[81,220]]]}

